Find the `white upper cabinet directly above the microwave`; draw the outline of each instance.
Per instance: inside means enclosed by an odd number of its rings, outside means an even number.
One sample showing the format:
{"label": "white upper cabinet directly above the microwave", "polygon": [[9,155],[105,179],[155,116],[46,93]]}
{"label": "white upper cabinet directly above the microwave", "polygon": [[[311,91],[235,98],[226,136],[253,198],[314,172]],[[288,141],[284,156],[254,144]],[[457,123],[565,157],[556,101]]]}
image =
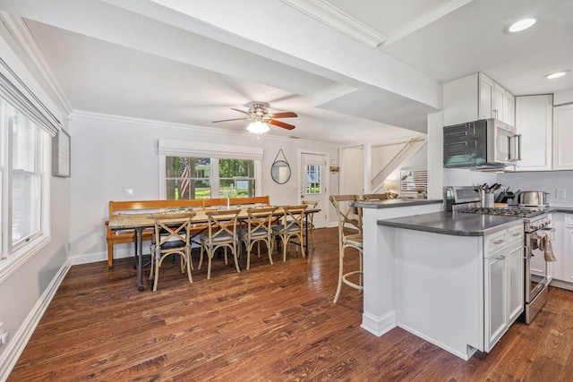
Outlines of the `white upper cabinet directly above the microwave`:
{"label": "white upper cabinet directly above the microwave", "polygon": [[483,73],[475,73],[443,86],[444,125],[497,118],[515,125],[515,98]]}

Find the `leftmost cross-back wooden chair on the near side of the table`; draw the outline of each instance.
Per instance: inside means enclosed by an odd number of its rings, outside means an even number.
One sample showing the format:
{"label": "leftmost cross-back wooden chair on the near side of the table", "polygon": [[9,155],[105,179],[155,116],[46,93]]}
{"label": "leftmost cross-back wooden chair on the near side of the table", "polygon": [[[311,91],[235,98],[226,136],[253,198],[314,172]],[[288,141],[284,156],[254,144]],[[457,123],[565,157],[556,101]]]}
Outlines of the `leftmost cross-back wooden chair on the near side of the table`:
{"label": "leftmost cross-back wooden chair on the near side of the table", "polygon": [[[164,215],[158,217],[159,215]],[[183,216],[182,216],[183,215]],[[153,291],[158,290],[159,268],[170,255],[179,255],[181,273],[187,268],[189,284],[192,284],[191,276],[191,226],[195,212],[184,214],[158,214],[154,216],[153,239],[150,245],[151,270],[150,279],[153,278]]]}

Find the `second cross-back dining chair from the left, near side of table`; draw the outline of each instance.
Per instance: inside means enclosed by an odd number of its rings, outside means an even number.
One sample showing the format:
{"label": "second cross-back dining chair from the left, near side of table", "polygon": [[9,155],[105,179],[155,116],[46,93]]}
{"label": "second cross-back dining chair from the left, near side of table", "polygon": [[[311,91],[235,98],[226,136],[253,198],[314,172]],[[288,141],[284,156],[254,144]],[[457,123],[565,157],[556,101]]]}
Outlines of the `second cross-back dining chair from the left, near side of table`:
{"label": "second cross-back dining chair from the left, near side of table", "polygon": [[239,269],[239,262],[237,259],[237,220],[240,209],[228,209],[220,211],[206,211],[205,215],[208,218],[208,232],[201,234],[201,255],[199,258],[199,267],[203,263],[203,251],[207,252],[208,265],[207,265],[207,279],[211,276],[211,261],[215,255],[215,251],[219,248],[225,250],[225,264],[227,263],[227,250],[231,250],[231,254],[235,259],[235,267],[237,272]]}

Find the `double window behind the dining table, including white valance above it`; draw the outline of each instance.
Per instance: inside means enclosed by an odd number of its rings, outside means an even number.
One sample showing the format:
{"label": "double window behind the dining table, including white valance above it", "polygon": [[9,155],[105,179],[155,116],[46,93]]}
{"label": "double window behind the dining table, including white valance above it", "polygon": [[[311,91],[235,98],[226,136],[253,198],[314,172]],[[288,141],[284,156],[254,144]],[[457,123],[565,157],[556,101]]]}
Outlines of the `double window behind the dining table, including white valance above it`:
{"label": "double window behind the dining table, including white valance above it", "polygon": [[[209,149],[205,149],[209,148]],[[261,194],[262,149],[159,140],[165,199],[246,198]]]}

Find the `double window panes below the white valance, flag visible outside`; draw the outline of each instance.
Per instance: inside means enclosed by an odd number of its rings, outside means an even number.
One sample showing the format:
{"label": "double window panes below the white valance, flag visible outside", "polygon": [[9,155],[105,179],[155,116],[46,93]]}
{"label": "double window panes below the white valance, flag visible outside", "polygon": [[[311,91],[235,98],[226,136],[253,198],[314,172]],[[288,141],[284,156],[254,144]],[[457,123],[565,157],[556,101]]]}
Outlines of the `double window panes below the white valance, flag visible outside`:
{"label": "double window panes below the white valance, flag visible outside", "polygon": [[252,159],[166,157],[165,163],[167,199],[255,196]]}

